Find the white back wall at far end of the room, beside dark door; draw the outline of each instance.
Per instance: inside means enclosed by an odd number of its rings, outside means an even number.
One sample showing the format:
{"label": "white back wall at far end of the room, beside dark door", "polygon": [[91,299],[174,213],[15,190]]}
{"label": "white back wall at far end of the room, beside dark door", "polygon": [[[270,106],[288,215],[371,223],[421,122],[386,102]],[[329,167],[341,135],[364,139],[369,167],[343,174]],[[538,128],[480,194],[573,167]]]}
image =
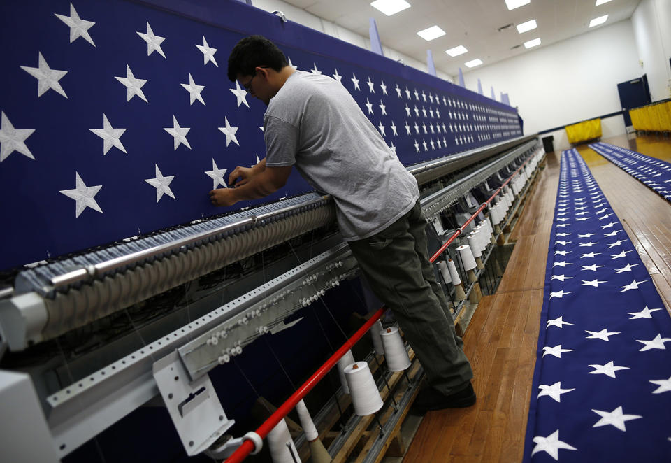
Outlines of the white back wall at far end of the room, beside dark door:
{"label": "white back wall at far end of the room, beside dark door", "polygon": [[[643,73],[631,21],[625,20],[473,69],[464,80],[476,92],[479,78],[486,95],[492,85],[497,98],[507,93],[524,119],[524,133],[533,134],[620,111],[617,84]],[[604,137],[624,134],[623,118],[603,120],[602,131]],[[568,148],[565,131],[553,135],[555,149]]]}

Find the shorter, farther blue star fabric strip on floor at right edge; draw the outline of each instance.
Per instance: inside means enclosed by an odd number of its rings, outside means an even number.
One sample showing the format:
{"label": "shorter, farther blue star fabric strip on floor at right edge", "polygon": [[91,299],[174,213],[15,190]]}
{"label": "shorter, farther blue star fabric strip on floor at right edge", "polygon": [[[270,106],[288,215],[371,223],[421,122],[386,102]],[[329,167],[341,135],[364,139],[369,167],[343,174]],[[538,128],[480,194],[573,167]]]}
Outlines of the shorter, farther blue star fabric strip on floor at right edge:
{"label": "shorter, farther blue star fabric strip on floor at right edge", "polygon": [[630,176],[637,178],[667,201],[671,201],[670,163],[610,143],[592,143],[589,148],[598,152]]}

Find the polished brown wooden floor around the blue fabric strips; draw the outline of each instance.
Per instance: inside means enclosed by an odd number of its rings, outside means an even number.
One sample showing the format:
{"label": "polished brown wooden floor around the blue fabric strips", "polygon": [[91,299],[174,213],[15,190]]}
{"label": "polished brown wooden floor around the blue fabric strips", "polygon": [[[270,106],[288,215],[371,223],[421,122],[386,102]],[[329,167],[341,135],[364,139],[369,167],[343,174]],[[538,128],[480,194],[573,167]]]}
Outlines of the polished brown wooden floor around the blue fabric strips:
{"label": "polished brown wooden floor around the blue fabric strips", "polygon": [[[630,140],[621,136],[603,141],[671,162],[668,137]],[[578,151],[669,308],[671,204],[586,145]],[[482,299],[464,334],[466,355],[475,372],[477,404],[427,413],[404,463],[521,462],[559,157],[559,152],[547,156],[547,167],[510,236],[517,244],[500,287],[496,294]]]}

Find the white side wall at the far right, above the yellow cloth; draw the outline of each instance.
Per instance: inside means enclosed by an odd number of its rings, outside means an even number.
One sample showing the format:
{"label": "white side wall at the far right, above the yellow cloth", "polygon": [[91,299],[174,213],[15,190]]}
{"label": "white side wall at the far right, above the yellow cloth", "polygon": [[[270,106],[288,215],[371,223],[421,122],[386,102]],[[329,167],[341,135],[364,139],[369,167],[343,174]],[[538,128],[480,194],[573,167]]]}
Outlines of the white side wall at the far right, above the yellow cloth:
{"label": "white side wall at the far right, above the yellow cloth", "polygon": [[631,22],[652,101],[671,97],[671,1],[641,1]]}

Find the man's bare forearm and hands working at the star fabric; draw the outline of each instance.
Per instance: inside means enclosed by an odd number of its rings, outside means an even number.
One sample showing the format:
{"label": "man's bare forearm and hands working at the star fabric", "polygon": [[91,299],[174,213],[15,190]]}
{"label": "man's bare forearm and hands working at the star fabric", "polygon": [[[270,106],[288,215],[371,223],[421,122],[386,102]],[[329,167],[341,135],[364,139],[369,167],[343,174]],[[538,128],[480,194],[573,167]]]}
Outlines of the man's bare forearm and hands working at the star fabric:
{"label": "man's bare forearm and hands working at the star fabric", "polygon": [[[293,166],[266,167],[265,159],[262,162],[264,163],[264,170],[248,177],[245,183],[239,183],[238,187],[212,190],[210,192],[212,204],[215,206],[233,206],[238,201],[263,198],[282,188],[287,183]],[[257,164],[257,166],[260,164]],[[257,166],[254,166],[254,168]],[[233,176],[233,173],[231,173],[231,176]],[[238,178],[238,176],[234,178]]]}

